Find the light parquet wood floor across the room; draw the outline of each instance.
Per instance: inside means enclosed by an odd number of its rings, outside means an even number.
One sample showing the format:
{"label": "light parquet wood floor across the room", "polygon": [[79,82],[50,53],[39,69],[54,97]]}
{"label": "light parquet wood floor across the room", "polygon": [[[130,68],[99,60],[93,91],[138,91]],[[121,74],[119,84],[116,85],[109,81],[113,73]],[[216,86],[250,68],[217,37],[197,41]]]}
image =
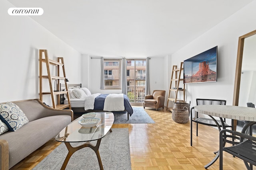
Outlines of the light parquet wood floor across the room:
{"label": "light parquet wood floor across the room", "polygon": [[[193,134],[190,146],[190,121],[185,124],[172,120],[172,113],[166,109],[146,108],[156,123],[114,124],[113,128],[128,128],[132,170],[205,170],[204,165],[214,158],[219,147],[218,130],[198,125],[198,137]],[[193,123],[193,128],[196,129]],[[194,130],[194,132],[196,132]],[[16,164],[11,170],[31,170],[52,150],[60,145],[54,139]],[[224,152],[224,170],[244,170],[239,158]],[[255,168],[255,167],[254,167]],[[218,170],[217,160],[208,170]]]}

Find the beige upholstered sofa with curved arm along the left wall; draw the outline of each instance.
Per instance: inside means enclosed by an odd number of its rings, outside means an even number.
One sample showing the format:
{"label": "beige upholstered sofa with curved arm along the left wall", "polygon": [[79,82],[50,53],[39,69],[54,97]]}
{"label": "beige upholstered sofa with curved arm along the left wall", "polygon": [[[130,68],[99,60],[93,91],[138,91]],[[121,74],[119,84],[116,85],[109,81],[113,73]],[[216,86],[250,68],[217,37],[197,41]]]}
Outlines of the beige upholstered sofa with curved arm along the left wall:
{"label": "beige upholstered sofa with curved arm along the left wall", "polygon": [[39,99],[12,102],[20,107],[29,122],[17,131],[0,135],[0,166],[8,170],[54,138],[73,120],[72,110],[52,109]]}

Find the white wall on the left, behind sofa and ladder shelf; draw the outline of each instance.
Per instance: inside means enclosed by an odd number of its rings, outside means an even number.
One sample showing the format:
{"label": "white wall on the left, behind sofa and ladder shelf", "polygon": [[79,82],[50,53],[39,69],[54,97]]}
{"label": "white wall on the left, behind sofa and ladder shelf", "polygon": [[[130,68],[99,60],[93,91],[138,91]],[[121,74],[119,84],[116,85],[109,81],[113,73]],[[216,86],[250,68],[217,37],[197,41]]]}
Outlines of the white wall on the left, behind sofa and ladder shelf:
{"label": "white wall on the left, behind sofa and ladder shelf", "polygon": [[[0,102],[39,98],[39,49],[47,49],[53,60],[64,57],[66,77],[80,82],[80,53],[30,17],[9,16],[11,7],[0,1]],[[44,98],[48,104],[50,96]]]}

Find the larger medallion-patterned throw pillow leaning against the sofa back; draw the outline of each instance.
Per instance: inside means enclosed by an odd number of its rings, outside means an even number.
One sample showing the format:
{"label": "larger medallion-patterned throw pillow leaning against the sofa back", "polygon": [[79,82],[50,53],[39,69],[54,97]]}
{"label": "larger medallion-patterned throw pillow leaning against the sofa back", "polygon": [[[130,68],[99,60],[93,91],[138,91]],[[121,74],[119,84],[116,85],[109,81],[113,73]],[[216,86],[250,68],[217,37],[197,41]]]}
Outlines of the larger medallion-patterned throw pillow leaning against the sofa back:
{"label": "larger medallion-patterned throw pillow leaning against the sofa back", "polygon": [[28,118],[20,107],[12,102],[0,104],[0,119],[7,125],[9,131],[16,131],[28,123]]}

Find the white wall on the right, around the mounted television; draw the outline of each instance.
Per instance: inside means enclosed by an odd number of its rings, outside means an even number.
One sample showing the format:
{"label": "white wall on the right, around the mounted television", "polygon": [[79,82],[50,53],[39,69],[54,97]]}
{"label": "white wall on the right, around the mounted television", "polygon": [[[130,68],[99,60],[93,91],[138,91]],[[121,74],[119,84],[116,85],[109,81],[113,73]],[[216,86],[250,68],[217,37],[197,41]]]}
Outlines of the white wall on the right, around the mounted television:
{"label": "white wall on the right, around the mounted television", "polygon": [[196,105],[196,98],[224,99],[227,105],[232,105],[238,37],[256,29],[255,9],[254,0],[172,54],[171,63],[178,64],[218,45],[217,82],[187,84],[186,97],[187,102],[191,101],[191,106]]}

